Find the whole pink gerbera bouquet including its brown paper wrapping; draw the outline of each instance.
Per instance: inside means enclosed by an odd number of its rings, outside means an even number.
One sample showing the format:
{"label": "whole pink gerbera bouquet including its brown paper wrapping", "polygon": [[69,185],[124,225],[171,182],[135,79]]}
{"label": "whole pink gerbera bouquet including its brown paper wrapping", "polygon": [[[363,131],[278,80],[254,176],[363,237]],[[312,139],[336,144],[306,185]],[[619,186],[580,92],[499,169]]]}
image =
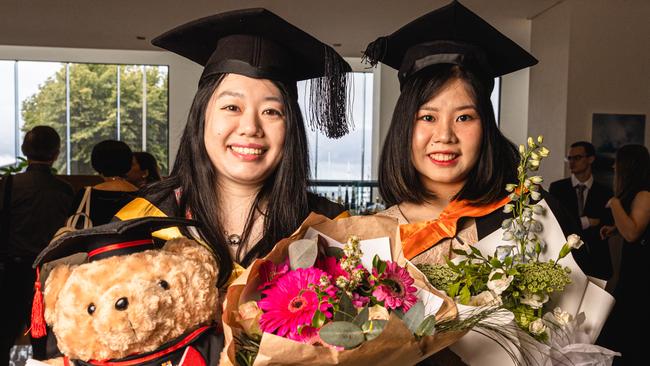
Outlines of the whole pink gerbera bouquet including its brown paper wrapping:
{"label": "whole pink gerbera bouquet including its brown paper wrapping", "polygon": [[229,287],[222,364],[415,364],[462,337],[475,319],[404,261],[397,232],[312,214]]}

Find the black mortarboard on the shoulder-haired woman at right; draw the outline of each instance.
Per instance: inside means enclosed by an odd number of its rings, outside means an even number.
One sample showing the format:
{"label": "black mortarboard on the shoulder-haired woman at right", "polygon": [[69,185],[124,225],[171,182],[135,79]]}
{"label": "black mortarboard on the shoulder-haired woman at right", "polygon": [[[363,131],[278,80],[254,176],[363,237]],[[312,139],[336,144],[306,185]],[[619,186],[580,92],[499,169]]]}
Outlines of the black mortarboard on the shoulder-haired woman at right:
{"label": "black mortarboard on the shoulder-haired woman at right", "polygon": [[425,14],[368,45],[364,58],[399,70],[400,85],[436,64],[471,68],[487,82],[537,59],[458,1]]}

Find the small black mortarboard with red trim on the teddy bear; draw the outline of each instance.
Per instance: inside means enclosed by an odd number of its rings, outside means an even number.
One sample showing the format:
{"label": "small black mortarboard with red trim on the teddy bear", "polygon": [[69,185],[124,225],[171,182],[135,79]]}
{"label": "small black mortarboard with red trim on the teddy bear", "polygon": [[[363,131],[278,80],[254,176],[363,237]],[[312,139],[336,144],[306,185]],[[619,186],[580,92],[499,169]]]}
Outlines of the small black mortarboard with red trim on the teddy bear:
{"label": "small black mortarboard with red trim on the teddy bear", "polygon": [[43,249],[36,258],[34,267],[78,253],[85,253],[86,261],[92,262],[160,248],[162,242],[154,240],[151,233],[171,226],[198,227],[199,222],[176,217],[141,217],[69,231],[54,238]]}

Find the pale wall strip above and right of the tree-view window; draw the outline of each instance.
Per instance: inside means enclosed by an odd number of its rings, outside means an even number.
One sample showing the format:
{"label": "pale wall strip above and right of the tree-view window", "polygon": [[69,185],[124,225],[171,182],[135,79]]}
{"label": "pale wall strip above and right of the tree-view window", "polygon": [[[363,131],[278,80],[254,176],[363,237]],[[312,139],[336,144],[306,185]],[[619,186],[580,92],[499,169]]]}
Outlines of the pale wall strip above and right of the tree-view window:
{"label": "pale wall strip above and right of the tree-view window", "polygon": [[96,62],[115,64],[148,64],[169,66],[169,166],[185,127],[192,98],[202,68],[197,64],[162,51],[99,50],[79,48],[48,48],[1,46],[0,59],[25,61]]}

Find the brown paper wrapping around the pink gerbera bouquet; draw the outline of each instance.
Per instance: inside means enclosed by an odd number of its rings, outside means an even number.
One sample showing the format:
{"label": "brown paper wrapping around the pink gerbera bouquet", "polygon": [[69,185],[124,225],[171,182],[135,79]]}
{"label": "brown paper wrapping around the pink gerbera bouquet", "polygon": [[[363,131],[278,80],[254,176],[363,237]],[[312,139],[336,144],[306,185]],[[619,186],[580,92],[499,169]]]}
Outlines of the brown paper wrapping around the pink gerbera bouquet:
{"label": "brown paper wrapping around the pink gerbera bouquet", "polygon": [[[350,235],[356,235],[362,240],[388,237],[393,261],[402,266],[407,263],[399,242],[397,220],[381,216],[355,216],[334,221],[312,213],[293,235],[278,242],[263,260],[255,261],[228,288],[222,316],[226,345],[221,355],[221,365],[234,364],[233,336],[243,332],[236,321],[239,305],[259,299],[257,291],[260,284],[259,266],[264,260],[276,264],[283,262],[288,256],[289,244],[301,239],[309,227],[339,242],[345,242]],[[410,266],[408,268],[411,269],[411,275],[419,288],[424,288],[443,299],[443,305],[436,314],[436,319],[440,321],[455,318],[458,309],[454,301],[431,287],[419,272],[413,271]],[[414,365],[453,344],[465,333],[465,331],[436,333],[417,340],[394,314],[391,314],[386,328],[377,338],[364,342],[357,348],[344,351],[303,344],[264,333],[254,365]]]}

